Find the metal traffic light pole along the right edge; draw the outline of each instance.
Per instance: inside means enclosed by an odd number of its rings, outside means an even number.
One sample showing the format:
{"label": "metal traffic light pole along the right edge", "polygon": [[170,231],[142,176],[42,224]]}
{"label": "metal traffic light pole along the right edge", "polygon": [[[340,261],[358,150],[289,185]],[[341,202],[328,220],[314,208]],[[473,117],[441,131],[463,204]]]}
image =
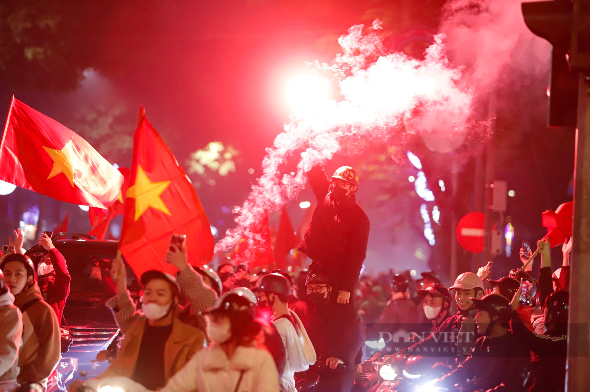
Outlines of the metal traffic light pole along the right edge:
{"label": "metal traffic light pole along the right edge", "polygon": [[590,84],[579,73],[566,391],[590,386]]}

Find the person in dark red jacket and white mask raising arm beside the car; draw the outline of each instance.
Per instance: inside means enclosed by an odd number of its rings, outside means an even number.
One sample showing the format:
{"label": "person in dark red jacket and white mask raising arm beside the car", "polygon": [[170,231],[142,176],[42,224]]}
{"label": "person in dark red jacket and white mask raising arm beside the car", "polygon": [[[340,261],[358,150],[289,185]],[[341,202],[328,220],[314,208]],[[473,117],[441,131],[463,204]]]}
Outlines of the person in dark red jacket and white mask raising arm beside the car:
{"label": "person in dark red jacket and white mask raising arm beside the car", "polygon": [[55,249],[47,234],[41,235],[39,245],[45,249],[45,254],[37,265],[39,289],[44,301],[53,308],[58,321],[61,322],[65,301],[70,295],[70,272],[64,256]]}

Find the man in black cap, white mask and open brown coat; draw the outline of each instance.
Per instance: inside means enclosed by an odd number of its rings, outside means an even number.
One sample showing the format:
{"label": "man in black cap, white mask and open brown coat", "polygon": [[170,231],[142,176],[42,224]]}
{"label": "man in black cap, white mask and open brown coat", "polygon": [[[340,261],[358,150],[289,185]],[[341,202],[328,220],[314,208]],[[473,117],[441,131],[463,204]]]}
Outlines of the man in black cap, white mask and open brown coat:
{"label": "man in black cap, white mask and open brown coat", "polygon": [[[205,334],[176,317],[180,288],[173,276],[152,269],[140,280],[146,319],[125,332],[119,354],[97,379],[123,376],[157,390],[203,348]],[[68,390],[80,384],[74,381]]]}

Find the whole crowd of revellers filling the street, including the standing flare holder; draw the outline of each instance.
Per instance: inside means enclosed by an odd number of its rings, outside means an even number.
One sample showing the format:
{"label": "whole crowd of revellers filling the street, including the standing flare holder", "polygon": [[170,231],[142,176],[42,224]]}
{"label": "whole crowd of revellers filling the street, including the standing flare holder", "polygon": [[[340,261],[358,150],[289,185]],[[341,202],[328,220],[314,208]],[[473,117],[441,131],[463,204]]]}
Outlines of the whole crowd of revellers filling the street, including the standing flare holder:
{"label": "whole crowd of revellers filling the street, including the standing flare holder", "polygon": [[[358,174],[345,166],[329,178],[316,167],[309,180],[318,204],[299,247],[312,259],[307,269],[253,274],[231,258],[217,270],[195,267],[186,244],[171,243],[165,261],[178,272],[143,273],[136,303],[126,266],[115,259],[116,294],[107,306],[120,333],[97,355],[110,365],[93,380],[70,383],[70,392],[114,379],[129,381],[126,392],[295,392],[296,380],[309,378],[317,392],[363,392],[379,381],[366,371],[373,364],[362,363],[363,322],[383,332],[417,325],[414,344],[387,353],[382,365],[440,357],[448,374],[432,380],[433,387],[565,389],[572,239],[555,272],[549,242],[537,242],[538,280],[531,275],[533,253],[523,249],[523,268],[493,280],[489,263],[448,288],[432,271],[416,282],[405,272],[360,275],[370,225],[355,199]],[[37,266],[22,241],[15,231],[0,259],[0,391],[45,392],[67,344],[63,309],[71,278],[51,238],[41,236]]]}

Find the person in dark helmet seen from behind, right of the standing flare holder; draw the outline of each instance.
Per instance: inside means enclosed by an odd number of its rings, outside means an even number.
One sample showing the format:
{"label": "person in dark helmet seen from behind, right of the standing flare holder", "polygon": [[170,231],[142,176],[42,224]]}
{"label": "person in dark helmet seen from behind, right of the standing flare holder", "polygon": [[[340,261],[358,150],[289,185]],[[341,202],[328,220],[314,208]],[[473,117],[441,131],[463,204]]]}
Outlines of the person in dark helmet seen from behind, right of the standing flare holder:
{"label": "person in dark helmet seen from behind, right of the standing flare holder", "polygon": [[391,324],[410,324],[418,322],[418,309],[409,298],[409,279],[395,274],[391,282],[391,299],[385,305],[378,322]]}

